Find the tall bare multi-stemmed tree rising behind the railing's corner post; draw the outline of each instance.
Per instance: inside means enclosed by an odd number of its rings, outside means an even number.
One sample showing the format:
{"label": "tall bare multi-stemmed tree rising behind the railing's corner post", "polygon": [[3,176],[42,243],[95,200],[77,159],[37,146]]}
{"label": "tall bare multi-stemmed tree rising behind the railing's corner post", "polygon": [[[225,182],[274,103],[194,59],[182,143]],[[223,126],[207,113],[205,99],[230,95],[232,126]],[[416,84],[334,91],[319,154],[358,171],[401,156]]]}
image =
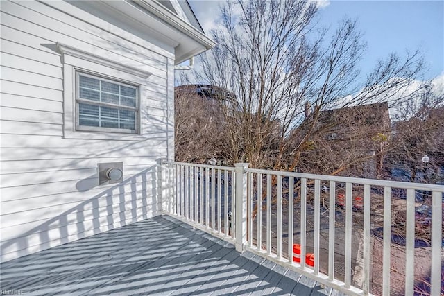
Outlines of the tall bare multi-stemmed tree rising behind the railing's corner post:
{"label": "tall bare multi-stemmed tree rising behind the railing's corner post", "polygon": [[274,166],[266,162],[272,153],[266,140],[276,130],[283,139],[298,112],[298,85],[312,75],[309,66],[318,55],[306,37],[315,12],[314,4],[298,1],[228,2],[223,8],[224,28],[213,32],[218,46],[203,59],[203,76],[239,101],[236,119],[228,123],[231,143],[241,143],[231,147],[235,162]]}

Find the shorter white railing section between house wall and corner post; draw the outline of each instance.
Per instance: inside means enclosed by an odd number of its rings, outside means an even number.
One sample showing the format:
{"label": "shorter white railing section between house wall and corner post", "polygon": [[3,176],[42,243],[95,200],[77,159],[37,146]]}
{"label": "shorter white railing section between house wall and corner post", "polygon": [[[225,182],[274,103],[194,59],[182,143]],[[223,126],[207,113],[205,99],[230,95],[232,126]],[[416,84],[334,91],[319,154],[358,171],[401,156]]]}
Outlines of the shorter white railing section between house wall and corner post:
{"label": "shorter white railing section between house wall and corner post", "polygon": [[234,243],[234,168],[180,162],[165,166],[167,212]]}

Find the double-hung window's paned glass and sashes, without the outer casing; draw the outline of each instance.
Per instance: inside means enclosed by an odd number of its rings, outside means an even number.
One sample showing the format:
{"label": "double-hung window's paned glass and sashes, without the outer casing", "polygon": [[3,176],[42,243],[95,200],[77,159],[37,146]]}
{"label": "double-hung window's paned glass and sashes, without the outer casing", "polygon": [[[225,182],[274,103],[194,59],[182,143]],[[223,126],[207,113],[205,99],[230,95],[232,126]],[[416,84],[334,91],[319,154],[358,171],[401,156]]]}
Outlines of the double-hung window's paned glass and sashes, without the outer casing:
{"label": "double-hung window's paned glass and sashes, without the outer casing", "polygon": [[76,130],[139,133],[139,87],[76,71]]}

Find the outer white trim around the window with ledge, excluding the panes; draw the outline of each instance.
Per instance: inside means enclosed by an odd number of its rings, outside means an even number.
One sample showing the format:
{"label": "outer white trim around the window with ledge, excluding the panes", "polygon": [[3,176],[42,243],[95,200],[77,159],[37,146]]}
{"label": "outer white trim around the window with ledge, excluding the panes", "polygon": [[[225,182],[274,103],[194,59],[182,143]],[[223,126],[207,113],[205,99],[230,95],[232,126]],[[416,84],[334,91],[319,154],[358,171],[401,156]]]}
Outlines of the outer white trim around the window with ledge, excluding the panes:
{"label": "outer white trim around the window with ledge, excluding the panes", "polygon": [[[141,118],[144,108],[144,87],[151,73],[75,49],[65,44],[58,43],[57,46],[62,53],[63,62],[63,137],[65,139],[146,141],[147,138],[144,137]],[[76,84],[78,80],[76,78],[77,73],[85,73],[96,76],[99,79],[110,80],[110,82],[114,81],[123,85],[138,87],[139,120],[136,126],[137,133],[114,128],[99,128],[99,130],[96,130],[94,127],[87,127],[86,125],[80,125],[81,128],[78,128],[78,110],[76,110],[78,105],[76,103],[78,89]]]}

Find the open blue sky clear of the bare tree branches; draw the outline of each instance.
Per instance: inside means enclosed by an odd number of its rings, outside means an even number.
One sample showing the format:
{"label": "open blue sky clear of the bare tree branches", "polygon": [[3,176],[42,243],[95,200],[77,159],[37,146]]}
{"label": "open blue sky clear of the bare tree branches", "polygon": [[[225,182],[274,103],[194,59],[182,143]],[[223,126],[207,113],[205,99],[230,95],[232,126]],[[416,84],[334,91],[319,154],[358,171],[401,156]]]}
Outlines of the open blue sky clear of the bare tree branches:
{"label": "open blue sky clear of the bare tree branches", "polygon": [[[278,1],[278,0],[274,0]],[[220,1],[189,0],[205,32],[216,26]],[[223,2],[222,2],[223,3]],[[429,71],[424,79],[444,75],[444,1],[323,1],[319,22],[334,30],[344,16],[357,19],[368,48],[363,73],[390,53],[420,49]]]}

